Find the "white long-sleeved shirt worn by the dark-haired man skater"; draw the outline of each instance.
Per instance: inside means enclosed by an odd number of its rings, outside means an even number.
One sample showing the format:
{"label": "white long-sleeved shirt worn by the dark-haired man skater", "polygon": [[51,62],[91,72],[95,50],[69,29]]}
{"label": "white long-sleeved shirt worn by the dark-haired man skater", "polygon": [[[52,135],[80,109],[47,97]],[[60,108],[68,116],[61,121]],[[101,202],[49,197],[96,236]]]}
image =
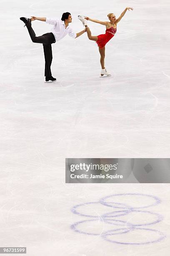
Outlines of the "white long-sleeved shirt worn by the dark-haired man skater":
{"label": "white long-sleeved shirt worn by the dark-haired man skater", "polygon": [[67,28],[65,28],[65,23],[63,20],[46,18],[45,22],[50,25],[54,25],[51,29],[51,32],[54,34],[56,41],[61,40],[67,34],[72,38],[76,38],[77,36],[72,28],[69,27],[69,25],[67,26]]}

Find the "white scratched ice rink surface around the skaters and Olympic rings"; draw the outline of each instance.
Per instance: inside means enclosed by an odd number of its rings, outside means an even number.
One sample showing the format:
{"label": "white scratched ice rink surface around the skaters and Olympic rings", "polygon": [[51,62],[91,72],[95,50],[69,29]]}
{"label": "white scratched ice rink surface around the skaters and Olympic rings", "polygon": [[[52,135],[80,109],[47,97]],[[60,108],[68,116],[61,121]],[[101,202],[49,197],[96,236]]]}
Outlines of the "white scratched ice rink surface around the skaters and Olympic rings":
{"label": "white scratched ice rink surface around the skaters and Olympic rings", "polygon": [[[77,15],[107,20],[125,5],[134,11],[106,45],[111,77],[99,77],[97,45],[83,34],[52,45],[57,82],[44,83],[42,45],[31,42],[19,17],[60,18],[69,11],[79,32]],[[168,0],[1,0],[1,246],[27,246],[28,256],[168,255],[168,184],[65,184],[65,157],[169,157],[169,13]],[[37,20],[32,27],[37,36],[51,28]],[[105,32],[97,23],[89,27],[92,35]],[[71,212],[74,205],[115,193],[158,196],[161,204],[148,210],[163,220],[150,228],[166,238],[118,245],[70,228],[83,220]]]}

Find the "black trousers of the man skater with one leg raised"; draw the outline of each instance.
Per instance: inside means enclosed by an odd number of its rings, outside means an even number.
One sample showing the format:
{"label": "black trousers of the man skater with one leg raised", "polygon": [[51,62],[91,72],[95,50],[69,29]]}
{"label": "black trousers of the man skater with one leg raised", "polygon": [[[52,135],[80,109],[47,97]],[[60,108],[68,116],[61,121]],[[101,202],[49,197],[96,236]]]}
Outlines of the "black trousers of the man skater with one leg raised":
{"label": "black trousers of the man skater with one leg raised", "polygon": [[52,47],[51,44],[55,43],[55,36],[53,33],[46,33],[42,36],[36,36],[32,29],[31,23],[26,24],[31,40],[34,43],[43,44],[45,56],[45,77],[51,76],[51,63],[52,63]]}

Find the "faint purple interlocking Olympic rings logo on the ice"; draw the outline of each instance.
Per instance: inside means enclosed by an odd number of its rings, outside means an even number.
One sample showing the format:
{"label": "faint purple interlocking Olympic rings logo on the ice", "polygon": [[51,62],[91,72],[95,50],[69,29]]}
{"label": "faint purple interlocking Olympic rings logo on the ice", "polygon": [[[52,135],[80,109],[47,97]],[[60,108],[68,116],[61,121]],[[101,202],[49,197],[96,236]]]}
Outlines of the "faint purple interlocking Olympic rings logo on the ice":
{"label": "faint purple interlocking Olympic rings logo on the ice", "polygon": [[73,206],[72,213],[86,219],[72,224],[71,229],[122,245],[158,243],[166,236],[160,230],[150,228],[150,225],[160,223],[163,216],[148,208],[160,203],[158,197],[147,194],[109,195],[97,202]]}

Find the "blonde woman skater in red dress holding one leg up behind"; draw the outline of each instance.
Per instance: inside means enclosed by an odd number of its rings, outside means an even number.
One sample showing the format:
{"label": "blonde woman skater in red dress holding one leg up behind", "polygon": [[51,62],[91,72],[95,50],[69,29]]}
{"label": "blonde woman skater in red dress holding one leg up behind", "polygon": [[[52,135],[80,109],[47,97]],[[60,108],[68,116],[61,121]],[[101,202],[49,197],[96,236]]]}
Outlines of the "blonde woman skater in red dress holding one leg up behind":
{"label": "blonde woman skater in red dress holding one leg up behind", "polygon": [[[107,44],[108,41],[115,35],[117,31],[117,23],[122,19],[122,17],[125,15],[127,10],[133,10],[131,7],[125,8],[125,10],[121,13],[119,18],[116,19],[114,13],[109,13],[107,17],[109,18],[110,21],[100,21],[100,20],[93,20],[89,17],[86,16],[78,16],[79,20],[82,21],[83,26],[86,27],[87,31],[87,36],[90,40],[95,41],[99,47],[99,52],[100,52],[100,64],[102,67],[101,70],[101,77],[102,76],[111,76],[109,72],[106,71],[105,69],[105,45]],[[99,35],[99,36],[92,36],[90,28],[87,26],[87,20],[102,24],[106,26],[106,33]]]}

